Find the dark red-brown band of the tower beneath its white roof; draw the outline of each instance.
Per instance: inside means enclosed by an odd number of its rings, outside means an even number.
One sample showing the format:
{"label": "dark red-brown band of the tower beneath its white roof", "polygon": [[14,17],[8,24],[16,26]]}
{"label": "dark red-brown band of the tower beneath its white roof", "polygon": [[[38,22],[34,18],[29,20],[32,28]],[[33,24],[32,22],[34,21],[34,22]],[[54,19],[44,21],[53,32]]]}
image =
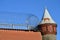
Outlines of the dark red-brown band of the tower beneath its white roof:
{"label": "dark red-brown band of the tower beneath its white roof", "polygon": [[41,24],[38,28],[42,34],[56,34],[56,24]]}

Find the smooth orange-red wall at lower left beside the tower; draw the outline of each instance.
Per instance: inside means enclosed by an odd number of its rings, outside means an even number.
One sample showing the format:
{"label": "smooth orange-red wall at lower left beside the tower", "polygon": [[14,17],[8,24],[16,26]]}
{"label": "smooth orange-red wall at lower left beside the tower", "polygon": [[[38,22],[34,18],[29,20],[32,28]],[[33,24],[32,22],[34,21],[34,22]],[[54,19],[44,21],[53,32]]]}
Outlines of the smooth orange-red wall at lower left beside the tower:
{"label": "smooth orange-red wall at lower left beside the tower", "polygon": [[0,30],[0,40],[42,40],[40,32]]}

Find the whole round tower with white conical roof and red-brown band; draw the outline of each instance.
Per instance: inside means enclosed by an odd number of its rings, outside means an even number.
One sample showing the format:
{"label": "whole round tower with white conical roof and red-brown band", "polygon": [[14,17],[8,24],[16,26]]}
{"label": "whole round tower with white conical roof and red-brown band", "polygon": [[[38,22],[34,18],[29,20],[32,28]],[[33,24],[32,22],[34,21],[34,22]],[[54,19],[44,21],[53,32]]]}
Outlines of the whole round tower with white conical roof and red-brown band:
{"label": "whole round tower with white conical roof and red-brown band", "polygon": [[56,27],[56,22],[51,18],[48,10],[45,9],[43,18],[38,25],[43,40],[56,40]]}

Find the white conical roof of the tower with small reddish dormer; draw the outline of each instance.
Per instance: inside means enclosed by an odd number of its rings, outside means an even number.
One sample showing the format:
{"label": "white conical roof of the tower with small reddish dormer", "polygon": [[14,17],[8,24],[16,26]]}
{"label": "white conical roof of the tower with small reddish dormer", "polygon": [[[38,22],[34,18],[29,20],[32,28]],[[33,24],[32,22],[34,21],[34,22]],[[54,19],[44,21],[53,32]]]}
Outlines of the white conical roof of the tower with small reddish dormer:
{"label": "white conical roof of the tower with small reddish dormer", "polygon": [[44,16],[43,16],[40,24],[45,24],[45,23],[54,23],[54,24],[56,24],[55,21],[51,18],[50,14],[49,14],[49,12],[46,8],[45,8]]}

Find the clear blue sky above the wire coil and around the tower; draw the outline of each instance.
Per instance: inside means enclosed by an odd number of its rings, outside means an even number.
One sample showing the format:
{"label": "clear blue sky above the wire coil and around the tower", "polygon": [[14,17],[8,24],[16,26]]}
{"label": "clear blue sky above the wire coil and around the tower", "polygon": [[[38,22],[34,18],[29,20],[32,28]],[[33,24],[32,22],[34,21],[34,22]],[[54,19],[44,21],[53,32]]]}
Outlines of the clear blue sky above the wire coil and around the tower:
{"label": "clear blue sky above the wire coil and around the tower", "polygon": [[[34,14],[41,20],[45,7],[58,24],[57,40],[60,40],[60,0],[0,0],[0,21],[6,15],[13,14],[12,12],[19,13],[19,15],[21,13]],[[7,14],[1,17],[4,12]]]}

